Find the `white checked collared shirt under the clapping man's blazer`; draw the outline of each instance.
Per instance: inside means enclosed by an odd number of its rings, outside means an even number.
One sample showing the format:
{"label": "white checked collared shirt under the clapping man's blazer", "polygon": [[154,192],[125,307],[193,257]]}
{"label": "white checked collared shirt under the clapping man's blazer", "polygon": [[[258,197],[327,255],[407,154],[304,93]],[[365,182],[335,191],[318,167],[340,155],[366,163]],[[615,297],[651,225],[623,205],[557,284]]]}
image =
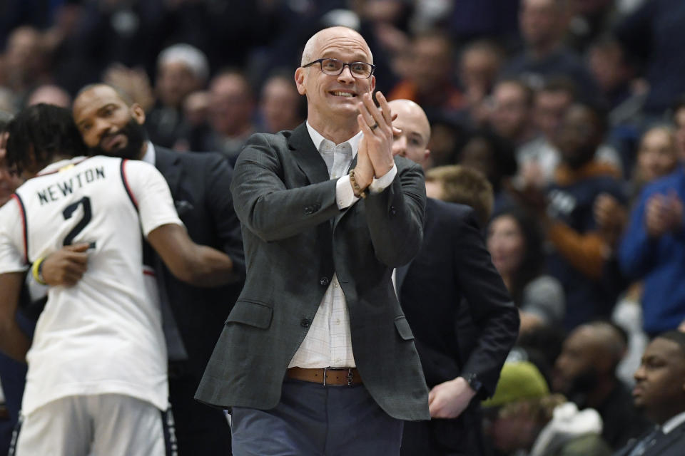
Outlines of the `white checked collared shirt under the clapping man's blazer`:
{"label": "white checked collared shirt under the clapping man's blazer", "polygon": [[[347,174],[352,160],[357,155],[362,133],[357,133],[349,140],[336,145],[320,135],[307,122],[310,138],[326,162],[331,179],[338,179],[335,187],[336,202],[339,209],[345,209],[357,202]],[[382,192],[397,175],[397,166],[379,179],[374,179],[369,186],[371,192]],[[356,367],[355,356],[352,353],[352,336],[350,334],[350,313],[347,310],[345,294],[340,288],[338,275],[333,274],[316,315],[311,323],[307,336],[295,352],[295,356],[288,364],[289,368],[325,368],[325,367]]]}

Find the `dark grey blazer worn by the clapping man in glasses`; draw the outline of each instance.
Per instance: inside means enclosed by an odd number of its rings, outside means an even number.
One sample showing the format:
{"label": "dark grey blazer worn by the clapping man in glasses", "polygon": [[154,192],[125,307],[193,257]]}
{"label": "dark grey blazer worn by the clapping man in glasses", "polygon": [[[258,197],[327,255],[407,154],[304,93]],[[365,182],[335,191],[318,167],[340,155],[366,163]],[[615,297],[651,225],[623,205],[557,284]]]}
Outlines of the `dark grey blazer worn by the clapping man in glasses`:
{"label": "dark grey blazer worn by the clapping man in glasses", "polygon": [[[350,311],[362,381],[388,415],[428,417],[414,336],[390,276],[420,248],[422,170],[396,158],[390,187],[338,209],[336,180],[305,125],[258,134],[235,165],[231,190],[243,224],[248,275],[196,398],[270,409],[335,272]],[[354,163],[352,164],[354,166]]]}

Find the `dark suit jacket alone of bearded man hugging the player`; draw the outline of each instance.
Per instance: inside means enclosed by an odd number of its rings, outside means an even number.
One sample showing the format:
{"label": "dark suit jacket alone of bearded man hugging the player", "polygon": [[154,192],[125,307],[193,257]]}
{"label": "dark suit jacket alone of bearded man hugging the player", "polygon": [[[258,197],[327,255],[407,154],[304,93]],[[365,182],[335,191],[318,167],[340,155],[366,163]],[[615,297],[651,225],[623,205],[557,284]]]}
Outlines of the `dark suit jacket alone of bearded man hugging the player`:
{"label": "dark suit jacket alone of bearded man hugging the player", "polygon": [[218,153],[175,152],[156,146],[155,154],[155,165],[171,189],[188,235],[197,244],[221,250],[233,260],[235,283],[226,286],[191,286],[176,279],[163,265],[158,278],[188,351],[189,371],[199,383],[245,277],[243,238],[230,195],[233,170]]}

